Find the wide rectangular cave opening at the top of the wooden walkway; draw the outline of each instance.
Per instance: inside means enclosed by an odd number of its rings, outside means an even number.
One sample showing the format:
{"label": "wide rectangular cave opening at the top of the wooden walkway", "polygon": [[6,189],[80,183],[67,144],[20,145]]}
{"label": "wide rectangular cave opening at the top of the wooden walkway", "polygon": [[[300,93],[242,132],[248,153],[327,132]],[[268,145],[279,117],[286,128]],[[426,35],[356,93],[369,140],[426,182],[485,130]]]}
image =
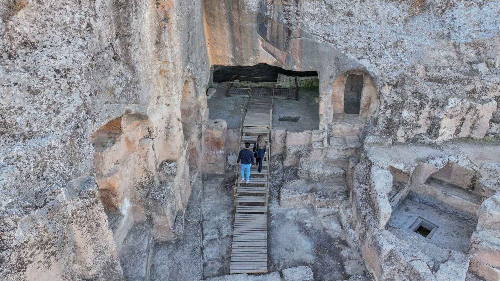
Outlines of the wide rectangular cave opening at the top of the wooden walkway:
{"label": "wide rectangular cave opening at the top of the wooden walkway", "polygon": [[[227,82],[234,76],[245,76],[272,89],[272,82],[289,83],[297,86],[298,100],[290,97],[274,95],[272,105],[272,125],[287,131],[300,132],[319,128],[319,77],[317,71],[293,71],[278,66],[259,63],[251,66],[213,65],[210,86],[215,93],[209,95],[208,117],[223,119],[228,129],[239,128],[241,108],[245,97],[229,96]],[[234,80],[234,79],[233,79]],[[213,90],[209,91],[213,92]],[[252,91],[253,93],[253,91]]]}

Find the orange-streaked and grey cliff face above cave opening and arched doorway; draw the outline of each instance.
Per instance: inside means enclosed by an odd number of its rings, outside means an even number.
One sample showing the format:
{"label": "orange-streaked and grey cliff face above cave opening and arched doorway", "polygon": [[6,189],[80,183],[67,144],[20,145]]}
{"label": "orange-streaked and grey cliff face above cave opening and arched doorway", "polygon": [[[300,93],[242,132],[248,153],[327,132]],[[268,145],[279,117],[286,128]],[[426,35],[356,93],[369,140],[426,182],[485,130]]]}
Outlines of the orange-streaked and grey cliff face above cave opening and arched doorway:
{"label": "orange-streaked and grey cliff face above cave opening and arched doorway", "polygon": [[340,98],[337,77],[363,70],[378,89],[371,129],[397,141],[499,132],[498,10],[468,0],[204,1],[213,64],[317,70],[320,128]]}

